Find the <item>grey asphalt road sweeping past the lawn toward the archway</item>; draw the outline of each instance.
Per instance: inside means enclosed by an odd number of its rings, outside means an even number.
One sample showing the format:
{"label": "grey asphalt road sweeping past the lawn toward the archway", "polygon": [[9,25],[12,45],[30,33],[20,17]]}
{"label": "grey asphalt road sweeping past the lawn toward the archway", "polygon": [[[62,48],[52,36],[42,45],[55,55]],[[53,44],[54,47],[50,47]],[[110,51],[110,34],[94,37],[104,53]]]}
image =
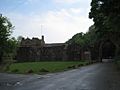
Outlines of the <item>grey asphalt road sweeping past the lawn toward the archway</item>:
{"label": "grey asphalt road sweeping past the lawn toward the archway", "polygon": [[120,73],[112,63],[47,75],[0,73],[0,90],[120,90]]}

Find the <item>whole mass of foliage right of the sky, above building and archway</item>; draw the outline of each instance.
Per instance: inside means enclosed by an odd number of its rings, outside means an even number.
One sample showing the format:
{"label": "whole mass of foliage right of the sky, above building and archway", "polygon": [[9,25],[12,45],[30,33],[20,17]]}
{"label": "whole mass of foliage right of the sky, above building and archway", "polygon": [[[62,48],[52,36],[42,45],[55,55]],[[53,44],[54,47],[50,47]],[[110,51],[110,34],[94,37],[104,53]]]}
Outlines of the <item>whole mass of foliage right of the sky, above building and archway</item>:
{"label": "whole mass of foliage right of the sky, above building and archway", "polygon": [[[120,43],[120,0],[92,0],[89,18],[94,25],[85,34],[74,35],[67,43],[77,44],[81,48],[89,48],[98,54],[99,44],[106,38]],[[96,55],[92,56],[96,56]]]}

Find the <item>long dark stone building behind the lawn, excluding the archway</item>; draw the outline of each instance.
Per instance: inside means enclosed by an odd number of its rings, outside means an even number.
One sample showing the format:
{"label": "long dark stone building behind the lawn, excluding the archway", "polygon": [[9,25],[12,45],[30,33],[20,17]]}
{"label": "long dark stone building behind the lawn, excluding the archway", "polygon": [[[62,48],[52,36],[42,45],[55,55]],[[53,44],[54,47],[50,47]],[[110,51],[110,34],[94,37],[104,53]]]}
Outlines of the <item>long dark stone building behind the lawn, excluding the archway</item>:
{"label": "long dark stone building behind the lawn, excluding the archway", "polygon": [[18,62],[31,61],[78,61],[90,59],[89,52],[84,52],[79,45],[66,43],[46,44],[44,36],[42,39],[22,39],[17,50],[16,60]]}

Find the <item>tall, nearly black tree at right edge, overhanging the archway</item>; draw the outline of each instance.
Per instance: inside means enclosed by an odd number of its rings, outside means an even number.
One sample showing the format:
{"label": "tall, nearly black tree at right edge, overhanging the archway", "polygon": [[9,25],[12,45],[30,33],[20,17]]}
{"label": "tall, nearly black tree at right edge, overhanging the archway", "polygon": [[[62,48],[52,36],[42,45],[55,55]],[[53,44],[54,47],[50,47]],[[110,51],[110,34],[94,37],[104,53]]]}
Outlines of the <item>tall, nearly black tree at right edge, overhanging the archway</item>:
{"label": "tall, nearly black tree at right edge, overhanging the archway", "polygon": [[115,56],[118,57],[120,55],[118,49],[120,45],[120,0],[92,0],[89,18],[94,21],[97,37],[95,43],[104,42],[106,38],[114,42],[117,46]]}

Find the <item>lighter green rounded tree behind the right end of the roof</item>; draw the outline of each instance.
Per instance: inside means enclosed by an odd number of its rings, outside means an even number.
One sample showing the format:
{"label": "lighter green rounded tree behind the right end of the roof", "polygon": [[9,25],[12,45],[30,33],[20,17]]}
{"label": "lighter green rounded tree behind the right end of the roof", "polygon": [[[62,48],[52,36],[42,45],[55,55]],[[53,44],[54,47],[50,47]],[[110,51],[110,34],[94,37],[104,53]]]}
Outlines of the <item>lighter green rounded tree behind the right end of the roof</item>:
{"label": "lighter green rounded tree behind the right end of the roof", "polygon": [[98,41],[98,34],[96,35],[96,28],[94,25],[92,25],[89,28],[89,31],[85,34],[83,33],[77,33],[74,35],[70,40],[68,40],[66,43],[72,44],[72,45],[79,45],[80,47],[91,47]]}

